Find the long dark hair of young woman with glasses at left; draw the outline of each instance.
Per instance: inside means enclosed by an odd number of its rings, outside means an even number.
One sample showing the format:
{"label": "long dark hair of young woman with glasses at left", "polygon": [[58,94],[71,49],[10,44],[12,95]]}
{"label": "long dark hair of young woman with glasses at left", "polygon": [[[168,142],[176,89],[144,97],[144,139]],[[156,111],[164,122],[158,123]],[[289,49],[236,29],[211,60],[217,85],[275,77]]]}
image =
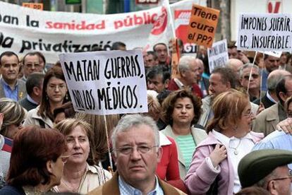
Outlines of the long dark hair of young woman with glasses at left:
{"label": "long dark hair of young woman with glasses at left", "polygon": [[43,118],[47,116],[49,117],[49,119],[54,121],[54,115],[53,113],[51,113],[49,101],[47,100],[47,85],[49,83],[49,79],[51,79],[52,77],[59,78],[66,82],[61,67],[54,66],[49,69],[49,71],[47,71],[47,73],[44,75],[44,83],[42,85],[42,100],[39,104],[39,111],[37,112],[37,114]]}

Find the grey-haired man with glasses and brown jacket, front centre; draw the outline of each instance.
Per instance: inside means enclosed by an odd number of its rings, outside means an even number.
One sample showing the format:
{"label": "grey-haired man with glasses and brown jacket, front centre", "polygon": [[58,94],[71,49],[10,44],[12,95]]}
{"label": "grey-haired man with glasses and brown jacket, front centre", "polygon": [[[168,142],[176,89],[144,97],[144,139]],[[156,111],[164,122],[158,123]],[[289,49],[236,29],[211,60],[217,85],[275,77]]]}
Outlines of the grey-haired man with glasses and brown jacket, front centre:
{"label": "grey-haired man with glasses and brown jacket, front centre", "polygon": [[162,148],[152,118],[126,115],[114,129],[111,143],[117,171],[89,194],[183,194],[155,175]]}

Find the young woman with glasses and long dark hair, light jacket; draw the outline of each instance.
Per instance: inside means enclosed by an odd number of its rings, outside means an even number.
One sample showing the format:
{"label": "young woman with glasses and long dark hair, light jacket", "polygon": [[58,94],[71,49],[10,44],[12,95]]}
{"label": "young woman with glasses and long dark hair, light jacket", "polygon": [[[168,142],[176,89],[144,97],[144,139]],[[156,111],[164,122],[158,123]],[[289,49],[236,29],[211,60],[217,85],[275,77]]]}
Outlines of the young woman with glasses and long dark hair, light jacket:
{"label": "young woman with glasses and long dark hair, light jacket", "polygon": [[67,85],[61,67],[54,66],[44,76],[42,100],[38,107],[28,112],[24,126],[38,125],[42,128],[52,128],[54,110],[66,99]]}

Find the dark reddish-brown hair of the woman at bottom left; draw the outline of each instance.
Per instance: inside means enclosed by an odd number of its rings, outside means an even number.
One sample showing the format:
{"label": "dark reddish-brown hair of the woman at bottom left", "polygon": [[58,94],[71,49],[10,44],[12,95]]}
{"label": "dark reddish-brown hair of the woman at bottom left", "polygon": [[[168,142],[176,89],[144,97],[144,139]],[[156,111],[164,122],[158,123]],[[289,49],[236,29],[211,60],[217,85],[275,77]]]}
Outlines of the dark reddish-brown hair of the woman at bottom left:
{"label": "dark reddish-brown hair of the woman at bottom left", "polygon": [[20,129],[13,139],[7,184],[16,187],[49,184],[52,174],[47,170],[47,162],[56,162],[66,148],[64,136],[56,129],[39,126]]}

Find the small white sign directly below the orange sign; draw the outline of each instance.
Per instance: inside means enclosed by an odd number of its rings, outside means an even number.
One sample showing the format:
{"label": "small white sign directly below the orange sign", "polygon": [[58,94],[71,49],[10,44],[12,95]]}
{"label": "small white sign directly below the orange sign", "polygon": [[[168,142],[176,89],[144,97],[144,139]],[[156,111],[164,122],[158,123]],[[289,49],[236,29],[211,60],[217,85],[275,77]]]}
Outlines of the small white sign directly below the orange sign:
{"label": "small white sign directly below the orange sign", "polygon": [[219,66],[225,66],[229,59],[227,40],[221,40],[214,42],[212,48],[207,49],[208,60],[209,60],[209,70],[212,72],[215,68]]}

